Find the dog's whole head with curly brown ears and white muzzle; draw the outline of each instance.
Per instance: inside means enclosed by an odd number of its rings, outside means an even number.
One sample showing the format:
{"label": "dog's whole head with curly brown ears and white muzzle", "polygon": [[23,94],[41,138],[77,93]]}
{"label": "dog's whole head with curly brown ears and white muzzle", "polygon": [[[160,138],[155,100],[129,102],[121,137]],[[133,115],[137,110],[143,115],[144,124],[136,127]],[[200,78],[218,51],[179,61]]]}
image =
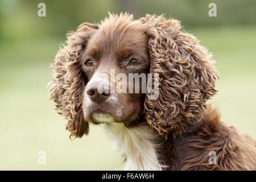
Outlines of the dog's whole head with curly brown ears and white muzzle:
{"label": "dog's whole head with curly brown ears and white muzzle", "polygon": [[146,119],[166,136],[199,121],[218,76],[207,49],[180,28],[162,16],[121,14],[70,32],[53,64],[50,94],[71,136],[88,134],[89,122]]}

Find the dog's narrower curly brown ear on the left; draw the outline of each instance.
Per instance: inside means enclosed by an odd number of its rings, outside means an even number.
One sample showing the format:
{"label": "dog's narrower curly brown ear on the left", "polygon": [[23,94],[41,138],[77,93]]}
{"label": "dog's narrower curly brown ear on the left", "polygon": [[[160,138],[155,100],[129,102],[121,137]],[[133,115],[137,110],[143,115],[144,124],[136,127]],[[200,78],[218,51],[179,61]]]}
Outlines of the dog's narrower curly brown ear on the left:
{"label": "dog's narrower curly brown ear on the left", "polygon": [[96,24],[83,23],[77,31],[69,32],[67,46],[59,50],[55,63],[51,65],[54,73],[49,93],[56,103],[57,112],[68,120],[70,137],[81,138],[89,133],[89,124],[82,113],[82,95],[86,81],[80,65],[80,55],[96,30]]}

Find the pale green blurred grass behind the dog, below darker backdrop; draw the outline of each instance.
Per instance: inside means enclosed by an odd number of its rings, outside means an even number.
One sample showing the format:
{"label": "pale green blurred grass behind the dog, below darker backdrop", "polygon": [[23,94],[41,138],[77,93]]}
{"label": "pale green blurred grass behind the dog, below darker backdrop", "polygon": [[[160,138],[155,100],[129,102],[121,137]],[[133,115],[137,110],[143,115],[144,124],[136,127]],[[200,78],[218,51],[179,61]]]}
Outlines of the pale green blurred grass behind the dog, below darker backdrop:
{"label": "pale green blurred grass behind the dog, below darker backdrop", "polygon": [[[220,109],[222,121],[256,138],[256,27],[189,32],[217,61],[219,92],[210,102]],[[0,169],[121,169],[121,156],[101,127],[71,141],[65,120],[48,101],[49,63],[59,42],[39,39],[0,46]],[[41,150],[46,151],[46,165],[38,164]]]}

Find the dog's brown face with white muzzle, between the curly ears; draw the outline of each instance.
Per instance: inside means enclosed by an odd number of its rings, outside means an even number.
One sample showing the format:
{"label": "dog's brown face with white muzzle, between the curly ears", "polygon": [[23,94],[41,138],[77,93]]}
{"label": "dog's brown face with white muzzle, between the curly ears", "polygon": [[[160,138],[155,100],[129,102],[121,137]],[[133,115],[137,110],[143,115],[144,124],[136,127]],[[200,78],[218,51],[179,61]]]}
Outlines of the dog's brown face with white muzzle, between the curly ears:
{"label": "dog's brown face with white muzzle, between the curly ears", "polygon": [[149,72],[147,41],[143,30],[129,23],[105,24],[91,36],[80,60],[86,80],[82,102],[86,121],[129,126],[142,118],[145,94],[129,92],[129,84],[137,86],[135,79],[129,82],[129,75]]}

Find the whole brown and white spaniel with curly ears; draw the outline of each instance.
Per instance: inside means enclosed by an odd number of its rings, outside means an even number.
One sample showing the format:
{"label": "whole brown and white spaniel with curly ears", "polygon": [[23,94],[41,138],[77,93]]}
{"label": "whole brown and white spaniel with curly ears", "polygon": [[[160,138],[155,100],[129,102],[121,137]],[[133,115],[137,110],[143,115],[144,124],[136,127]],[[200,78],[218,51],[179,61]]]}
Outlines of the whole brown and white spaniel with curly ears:
{"label": "whole brown and white spaniel with curly ears", "polygon": [[[87,135],[89,123],[105,125],[127,170],[256,169],[255,140],[225,126],[206,104],[217,92],[214,61],[179,21],[110,14],[67,37],[52,65],[49,92],[71,137]],[[109,80],[100,75],[110,76],[111,69],[114,75],[158,75],[152,81],[158,97],[108,92]],[[122,83],[124,90],[131,84]],[[98,85],[105,86],[101,92]]]}

